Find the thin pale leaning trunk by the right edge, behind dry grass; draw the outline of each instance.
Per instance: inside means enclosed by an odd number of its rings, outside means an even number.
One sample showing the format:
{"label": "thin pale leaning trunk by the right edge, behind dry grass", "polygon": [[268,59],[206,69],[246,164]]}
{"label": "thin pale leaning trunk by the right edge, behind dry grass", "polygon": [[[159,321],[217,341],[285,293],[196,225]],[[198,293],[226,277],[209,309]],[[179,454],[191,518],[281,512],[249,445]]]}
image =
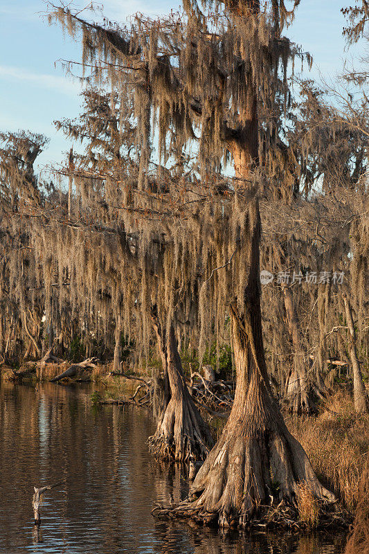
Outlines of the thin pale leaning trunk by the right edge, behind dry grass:
{"label": "thin pale leaning trunk by the right edge, behind dry grass", "polygon": [[352,309],[350,300],[346,294],[343,295],[343,302],[345,303],[346,319],[348,323],[349,343],[348,350],[350,352],[350,359],[352,363],[352,371],[354,374],[354,406],[357,413],[369,412],[369,400],[366,393],[366,387],[363,383],[363,376],[361,375],[361,368],[359,359],[357,357],[357,339],[354,328],[354,320],[352,318]]}

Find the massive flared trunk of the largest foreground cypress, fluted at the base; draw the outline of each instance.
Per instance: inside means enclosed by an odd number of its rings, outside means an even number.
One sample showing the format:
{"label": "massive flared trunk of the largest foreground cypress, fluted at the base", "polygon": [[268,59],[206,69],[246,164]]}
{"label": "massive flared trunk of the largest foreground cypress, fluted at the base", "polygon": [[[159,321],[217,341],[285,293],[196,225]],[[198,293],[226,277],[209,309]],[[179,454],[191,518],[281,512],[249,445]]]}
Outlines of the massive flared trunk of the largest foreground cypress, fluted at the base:
{"label": "massive flared trunk of the largest foreground cypress, fluted at the base", "polygon": [[221,438],[201,466],[190,497],[172,514],[221,527],[246,526],[268,506],[284,500],[296,506],[298,483],[304,481],[318,499],[334,494],[319,483],[303,447],[291,436],[273,397],[262,341],[257,204],[249,281],[242,305],[233,301],[233,349],[237,385],[235,400]]}

